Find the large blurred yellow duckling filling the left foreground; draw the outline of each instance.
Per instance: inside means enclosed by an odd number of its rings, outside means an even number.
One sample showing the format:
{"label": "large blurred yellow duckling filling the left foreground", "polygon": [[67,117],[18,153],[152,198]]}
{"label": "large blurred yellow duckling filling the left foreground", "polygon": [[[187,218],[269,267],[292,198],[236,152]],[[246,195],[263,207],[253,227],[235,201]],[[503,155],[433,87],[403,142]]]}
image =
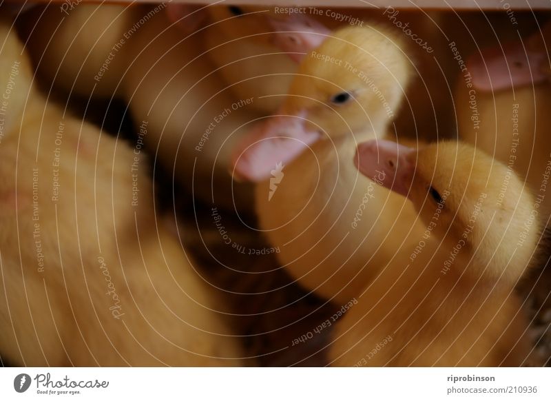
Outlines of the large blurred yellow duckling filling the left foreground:
{"label": "large blurred yellow duckling filling the left foreground", "polygon": [[147,157],[64,114],[0,24],[0,353],[20,366],[236,366],[220,302],[157,222]]}

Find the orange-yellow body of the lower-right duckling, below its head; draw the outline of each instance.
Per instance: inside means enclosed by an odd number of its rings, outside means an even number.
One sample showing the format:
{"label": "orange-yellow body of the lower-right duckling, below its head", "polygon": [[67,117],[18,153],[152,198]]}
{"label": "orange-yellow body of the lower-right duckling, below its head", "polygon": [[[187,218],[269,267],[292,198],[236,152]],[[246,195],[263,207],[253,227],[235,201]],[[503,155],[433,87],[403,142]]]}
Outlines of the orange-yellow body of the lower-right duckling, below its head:
{"label": "orange-yellow body of the lower-right duckling, below its head", "polygon": [[462,277],[477,267],[464,256],[442,274],[453,246],[426,241],[413,261],[414,248],[398,252],[337,322],[331,364],[519,367],[527,362],[528,321],[512,285]]}

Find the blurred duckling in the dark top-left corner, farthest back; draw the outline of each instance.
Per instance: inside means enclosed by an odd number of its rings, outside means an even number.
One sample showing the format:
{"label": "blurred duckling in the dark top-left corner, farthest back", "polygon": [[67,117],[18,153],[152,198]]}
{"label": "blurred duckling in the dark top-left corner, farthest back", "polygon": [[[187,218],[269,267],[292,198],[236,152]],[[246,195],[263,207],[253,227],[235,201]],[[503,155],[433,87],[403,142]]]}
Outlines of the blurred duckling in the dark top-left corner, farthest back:
{"label": "blurred duckling in the dark top-left corner, farthest back", "polygon": [[118,83],[132,60],[123,35],[135,16],[129,5],[81,3],[65,13],[52,4],[34,7],[17,22],[30,37],[25,46],[48,85],[109,99],[121,95]]}

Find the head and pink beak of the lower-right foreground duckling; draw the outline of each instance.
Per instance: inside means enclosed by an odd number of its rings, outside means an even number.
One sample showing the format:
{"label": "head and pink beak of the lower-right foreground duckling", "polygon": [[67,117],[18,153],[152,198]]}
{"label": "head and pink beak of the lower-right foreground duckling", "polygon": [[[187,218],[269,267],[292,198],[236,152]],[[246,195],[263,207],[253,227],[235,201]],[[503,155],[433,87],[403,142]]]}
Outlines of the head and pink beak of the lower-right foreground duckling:
{"label": "head and pink beak of the lower-right foreground duckling", "polygon": [[514,282],[528,267],[541,224],[534,197],[508,166],[464,143],[413,150],[382,140],[360,143],[355,164],[407,196],[430,232],[470,252],[486,276]]}

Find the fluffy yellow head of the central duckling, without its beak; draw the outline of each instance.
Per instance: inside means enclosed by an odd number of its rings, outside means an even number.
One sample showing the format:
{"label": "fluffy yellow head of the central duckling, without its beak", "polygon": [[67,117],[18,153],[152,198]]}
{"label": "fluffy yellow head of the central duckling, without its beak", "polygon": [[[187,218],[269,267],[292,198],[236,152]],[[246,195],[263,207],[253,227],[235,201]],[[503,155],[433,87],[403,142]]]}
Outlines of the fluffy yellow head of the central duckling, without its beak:
{"label": "fluffy yellow head of the central duckling, without its beak", "polygon": [[282,114],[305,114],[307,130],[337,137],[383,135],[410,77],[402,41],[377,28],[337,30],[300,64]]}

